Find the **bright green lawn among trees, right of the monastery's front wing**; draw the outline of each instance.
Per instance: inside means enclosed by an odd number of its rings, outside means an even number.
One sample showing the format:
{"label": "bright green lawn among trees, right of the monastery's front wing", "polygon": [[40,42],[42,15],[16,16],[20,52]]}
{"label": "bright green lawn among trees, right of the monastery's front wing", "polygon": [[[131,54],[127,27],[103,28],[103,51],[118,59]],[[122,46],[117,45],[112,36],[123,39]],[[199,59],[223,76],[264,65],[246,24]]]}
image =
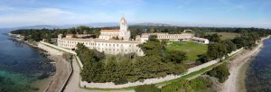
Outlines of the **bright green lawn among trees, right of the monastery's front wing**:
{"label": "bright green lawn among trees, right of the monastery's front wing", "polygon": [[208,49],[207,45],[196,43],[192,41],[185,41],[183,43],[173,42],[167,45],[166,51],[185,51],[188,57],[187,61],[196,61],[199,59],[199,55],[204,54]]}

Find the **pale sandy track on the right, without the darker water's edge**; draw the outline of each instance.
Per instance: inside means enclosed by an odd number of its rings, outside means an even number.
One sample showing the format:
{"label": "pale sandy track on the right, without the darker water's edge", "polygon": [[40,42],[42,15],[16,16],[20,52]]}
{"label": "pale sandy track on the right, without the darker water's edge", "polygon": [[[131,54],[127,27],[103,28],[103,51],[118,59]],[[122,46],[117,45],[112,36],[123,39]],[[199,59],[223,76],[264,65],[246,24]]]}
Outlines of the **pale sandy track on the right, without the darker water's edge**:
{"label": "pale sandy track on the right, without the darker water's edge", "polygon": [[[262,39],[262,41],[265,39]],[[229,75],[229,78],[223,84],[221,92],[239,92],[238,90],[239,70],[241,69],[243,65],[245,65],[245,63],[248,60],[250,60],[253,56],[256,56],[257,53],[261,50],[263,46],[262,41],[253,50],[245,51],[244,53],[238,55],[237,58],[230,61],[230,68],[229,68],[230,75]]]}

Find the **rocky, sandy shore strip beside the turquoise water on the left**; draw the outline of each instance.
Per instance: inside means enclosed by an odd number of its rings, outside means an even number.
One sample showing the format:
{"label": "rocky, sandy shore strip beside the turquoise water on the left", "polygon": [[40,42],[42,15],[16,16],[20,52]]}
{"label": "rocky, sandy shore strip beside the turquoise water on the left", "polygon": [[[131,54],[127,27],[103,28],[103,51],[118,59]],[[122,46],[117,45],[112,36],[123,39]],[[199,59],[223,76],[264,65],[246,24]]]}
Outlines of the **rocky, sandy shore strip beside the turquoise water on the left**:
{"label": "rocky, sandy shore strip beside the turquoise water on the left", "polygon": [[[14,34],[16,35],[16,34]],[[56,51],[54,49],[48,48],[47,46],[42,45],[39,42],[30,42],[23,41],[21,38],[12,37],[16,41],[21,41],[22,43],[27,44],[31,48],[38,49],[39,51],[48,53],[48,59],[52,60],[52,64],[56,69],[52,76],[44,78],[33,83],[33,86],[39,87],[38,92],[58,92],[61,90],[62,85],[65,82],[65,79],[69,77],[70,74],[70,65],[64,57],[62,57],[61,51]]]}

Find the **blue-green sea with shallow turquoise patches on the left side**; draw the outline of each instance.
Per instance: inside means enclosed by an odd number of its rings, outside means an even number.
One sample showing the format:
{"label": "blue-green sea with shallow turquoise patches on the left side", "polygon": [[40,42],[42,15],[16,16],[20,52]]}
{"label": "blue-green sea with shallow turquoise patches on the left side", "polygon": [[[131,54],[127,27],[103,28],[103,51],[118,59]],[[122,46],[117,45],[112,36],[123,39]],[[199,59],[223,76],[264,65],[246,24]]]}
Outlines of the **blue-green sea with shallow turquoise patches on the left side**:
{"label": "blue-green sea with shallow turquoise patches on the left side", "polygon": [[11,41],[0,32],[0,92],[31,92],[37,82],[48,78],[54,67],[41,52],[26,44]]}

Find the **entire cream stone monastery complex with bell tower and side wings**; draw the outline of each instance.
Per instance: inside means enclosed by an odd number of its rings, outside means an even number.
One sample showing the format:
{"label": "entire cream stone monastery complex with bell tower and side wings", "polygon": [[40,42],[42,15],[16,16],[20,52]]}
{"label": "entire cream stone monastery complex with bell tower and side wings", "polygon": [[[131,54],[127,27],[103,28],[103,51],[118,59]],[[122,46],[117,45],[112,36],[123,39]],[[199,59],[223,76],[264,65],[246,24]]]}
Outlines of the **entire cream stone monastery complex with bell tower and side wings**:
{"label": "entire cream stone monastery complex with bell tower and side wings", "polygon": [[96,49],[107,54],[135,53],[138,56],[144,56],[144,52],[137,45],[148,41],[151,35],[157,35],[158,40],[209,43],[207,39],[194,37],[191,33],[168,34],[167,32],[143,33],[141,36],[137,35],[135,41],[131,41],[124,17],[120,20],[119,30],[101,30],[98,39],[89,38],[91,34],[67,34],[66,37],[59,34],[57,42],[58,46],[70,50],[75,50],[78,43],[83,43],[89,49]]}

